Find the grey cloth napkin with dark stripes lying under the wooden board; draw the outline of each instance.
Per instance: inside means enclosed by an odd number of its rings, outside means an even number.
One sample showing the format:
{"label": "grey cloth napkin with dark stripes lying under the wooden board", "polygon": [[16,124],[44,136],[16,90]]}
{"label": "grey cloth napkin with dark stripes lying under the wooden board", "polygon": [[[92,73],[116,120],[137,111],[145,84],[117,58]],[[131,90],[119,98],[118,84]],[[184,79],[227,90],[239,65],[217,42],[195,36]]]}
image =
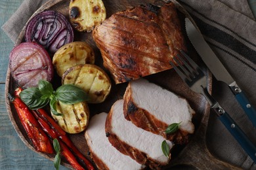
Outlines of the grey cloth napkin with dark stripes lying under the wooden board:
{"label": "grey cloth napkin with dark stripes lying under the wooden board", "polygon": [[[16,41],[30,16],[47,0],[26,0],[2,29]],[[215,54],[256,107],[256,22],[246,0],[180,0]],[[19,23],[19,24],[16,24]],[[256,130],[228,86],[213,80],[213,96],[256,143]],[[209,118],[207,144],[214,156],[243,169],[256,169],[215,114]]]}

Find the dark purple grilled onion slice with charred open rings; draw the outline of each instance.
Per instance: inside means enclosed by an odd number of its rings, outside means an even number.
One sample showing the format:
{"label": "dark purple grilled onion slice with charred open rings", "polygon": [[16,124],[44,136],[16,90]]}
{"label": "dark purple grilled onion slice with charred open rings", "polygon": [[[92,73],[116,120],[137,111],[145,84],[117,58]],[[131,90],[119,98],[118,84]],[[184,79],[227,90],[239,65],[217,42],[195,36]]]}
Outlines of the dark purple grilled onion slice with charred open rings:
{"label": "dark purple grilled onion slice with charred open rings", "polygon": [[34,16],[26,27],[26,42],[37,42],[51,54],[64,44],[74,40],[70,22],[65,16],[53,10],[47,10]]}

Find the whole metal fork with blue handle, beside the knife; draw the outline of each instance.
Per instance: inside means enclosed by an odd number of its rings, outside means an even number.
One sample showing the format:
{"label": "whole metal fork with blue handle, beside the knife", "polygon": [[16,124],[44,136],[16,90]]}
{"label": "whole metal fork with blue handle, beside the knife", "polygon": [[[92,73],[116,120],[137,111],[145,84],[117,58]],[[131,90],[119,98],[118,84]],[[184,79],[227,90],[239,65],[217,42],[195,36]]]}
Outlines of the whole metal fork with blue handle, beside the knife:
{"label": "whole metal fork with blue handle, beside the knife", "polygon": [[179,67],[177,67],[173,61],[169,61],[171,66],[191,90],[196,93],[202,93],[211,109],[217,114],[219,120],[221,120],[226,129],[228,129],[254,163],[256,163],[256,146],[248,139],[247,135],[245,135],[236,122],[232,120],[223,107],[209,94],[207,91],[206,76],[200,67],[186,53],[181,51],[181,54],[182,55],[178,54],[173,58]]}

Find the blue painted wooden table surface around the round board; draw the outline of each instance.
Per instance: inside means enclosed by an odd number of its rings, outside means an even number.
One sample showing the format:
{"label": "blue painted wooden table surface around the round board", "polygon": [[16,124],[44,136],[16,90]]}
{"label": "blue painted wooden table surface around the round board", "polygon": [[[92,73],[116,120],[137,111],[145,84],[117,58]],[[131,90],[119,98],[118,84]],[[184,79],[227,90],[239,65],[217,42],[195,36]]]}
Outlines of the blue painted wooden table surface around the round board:
{"label": "blue painted wooden table surface around the round board", "polygon": [[[3,25],[18,9],[23,0],[0,1],[0,25]],[[248,0],[256,9],[256,0]],[[253,10],[256,14],[256,10]],[[18,24],[18,23],[17,23]],[[5,107],[5,78],[9,53],[14,46],[7,35],[0,30],[0,169],[54,169],[53,162],[30,150],[16,134]],[[61,167],[61,169],[66,169]]]}

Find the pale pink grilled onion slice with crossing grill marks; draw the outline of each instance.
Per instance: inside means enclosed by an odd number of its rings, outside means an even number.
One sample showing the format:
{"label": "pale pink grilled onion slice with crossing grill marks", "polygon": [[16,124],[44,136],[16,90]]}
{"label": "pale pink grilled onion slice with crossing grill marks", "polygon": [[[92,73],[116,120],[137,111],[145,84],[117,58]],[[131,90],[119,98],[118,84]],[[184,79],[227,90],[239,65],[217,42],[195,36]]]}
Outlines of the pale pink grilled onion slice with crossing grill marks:
{"label": "pale pink grilled onion slice with crossing grill marks", "polygon": [[43,46],[22,42],[12,49],[9,58],[11,75],[22,88],[37,86],[39,80],[51,81],[53,64]]}

